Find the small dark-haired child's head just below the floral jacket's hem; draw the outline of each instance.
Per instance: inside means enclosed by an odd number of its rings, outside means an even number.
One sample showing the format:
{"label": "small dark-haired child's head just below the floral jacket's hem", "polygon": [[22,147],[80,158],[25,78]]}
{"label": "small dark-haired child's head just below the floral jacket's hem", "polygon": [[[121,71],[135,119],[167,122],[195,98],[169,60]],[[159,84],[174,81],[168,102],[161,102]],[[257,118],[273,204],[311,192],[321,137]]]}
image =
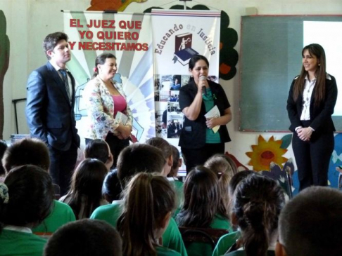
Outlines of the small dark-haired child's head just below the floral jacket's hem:
{"label": "small dark-haired child's head just below the floral jacket's hem", "polygon": [[86,159],[98,159],[102,163],[106,163],[109,156],[108,144],[104,140],[91,140],[84,148],[84,157]]}

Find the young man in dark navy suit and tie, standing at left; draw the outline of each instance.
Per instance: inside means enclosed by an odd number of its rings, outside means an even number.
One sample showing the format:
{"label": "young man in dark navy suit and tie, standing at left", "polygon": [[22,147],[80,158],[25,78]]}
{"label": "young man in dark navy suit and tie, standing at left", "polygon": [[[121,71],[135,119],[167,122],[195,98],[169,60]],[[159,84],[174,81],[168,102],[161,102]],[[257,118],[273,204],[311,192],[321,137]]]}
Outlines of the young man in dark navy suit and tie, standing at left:
{"label": "young man in dark navy suit and tie, standing at left", "polygon": [[74,114],[75,79],[65,69],[71,58],[68,36],[62,32],[49,34],[43,48],[49,62],[29,76],[26,119],[31,137],[49,147],[50,174],[63,195],[68,191],[80,147]]}

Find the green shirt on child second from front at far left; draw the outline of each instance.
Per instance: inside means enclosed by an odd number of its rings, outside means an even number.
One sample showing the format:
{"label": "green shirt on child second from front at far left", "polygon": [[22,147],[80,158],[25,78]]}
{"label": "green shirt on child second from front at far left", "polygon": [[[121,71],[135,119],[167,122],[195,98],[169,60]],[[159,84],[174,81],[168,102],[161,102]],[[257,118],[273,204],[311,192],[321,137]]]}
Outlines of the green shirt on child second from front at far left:
{"label": "green shirt on child second from front at far left", "polygon": [[51,236],[54,231],[68,222],[76,220],[74,212],[66,203],[53,200],[53,210],[39,226],[32,229],[39,236]]}

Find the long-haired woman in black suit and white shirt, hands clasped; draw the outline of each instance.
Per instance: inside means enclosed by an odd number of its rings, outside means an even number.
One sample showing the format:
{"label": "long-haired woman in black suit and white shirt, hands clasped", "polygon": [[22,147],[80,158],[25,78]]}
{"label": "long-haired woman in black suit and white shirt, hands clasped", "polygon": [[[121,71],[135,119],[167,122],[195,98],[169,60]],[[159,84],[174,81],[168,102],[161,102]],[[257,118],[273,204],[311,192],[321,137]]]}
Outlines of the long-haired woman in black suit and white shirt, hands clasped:
{"label": "long-haired woman in black suit and white shirt, hands clasped", "polygon": [[331,114],[337,98],[336,80],[326,72],[322,46],[317,43],[305,46],[302,56],[302,70],[293,79],[287,100],[299,190],[312,184],[328,184],[335,131]]}

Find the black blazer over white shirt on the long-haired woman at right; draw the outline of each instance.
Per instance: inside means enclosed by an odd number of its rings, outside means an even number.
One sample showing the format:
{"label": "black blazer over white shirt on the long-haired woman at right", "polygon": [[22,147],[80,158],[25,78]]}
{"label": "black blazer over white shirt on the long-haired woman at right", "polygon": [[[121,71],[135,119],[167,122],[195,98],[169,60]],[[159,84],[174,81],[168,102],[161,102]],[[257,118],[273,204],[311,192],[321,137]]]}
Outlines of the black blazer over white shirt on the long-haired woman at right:
{"label": "black blazer over white shirt on the long-haired woman at right", "polygon": [[[330,79],[329,79],[330,78]],[[296,102],[293,100],[293,86],[298,79],[298,76],[293,79],[291,88],[289,91],[289,97],[287,100],[287,112],[291,121],[290,130],[295,131],[296,127],[303,126],[300,121],[300,115],[303,107],[303,95],[299,95]],[[315,106],[315,89],[312,91],[310,101],[310,127],[315,130],[315,134],[321,133],[333,133],[335,131],[334,123],[331,119],[331,115],[334,113],[334,107],[337,99],[337,86],[336,79],[334,76],[327,74],[326,88],[325,88],[325,99],[319,106]]]}

